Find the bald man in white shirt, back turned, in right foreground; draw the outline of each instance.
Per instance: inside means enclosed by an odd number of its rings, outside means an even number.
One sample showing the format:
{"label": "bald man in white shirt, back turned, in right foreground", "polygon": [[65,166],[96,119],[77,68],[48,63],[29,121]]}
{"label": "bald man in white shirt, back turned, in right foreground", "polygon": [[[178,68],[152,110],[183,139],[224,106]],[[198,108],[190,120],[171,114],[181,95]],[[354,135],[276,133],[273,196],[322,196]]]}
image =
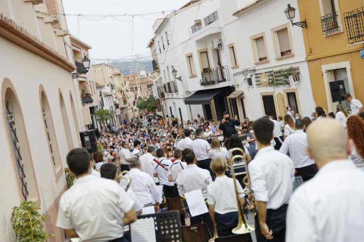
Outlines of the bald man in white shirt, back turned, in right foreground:
{"label": "bald man in white shirt, back turned, in right foreground", "polygon": [[318,172],[290,199],[286,242],[364,241],[364,172],[348,160],[351,141],[344,127],[321,119],[307,135]]}

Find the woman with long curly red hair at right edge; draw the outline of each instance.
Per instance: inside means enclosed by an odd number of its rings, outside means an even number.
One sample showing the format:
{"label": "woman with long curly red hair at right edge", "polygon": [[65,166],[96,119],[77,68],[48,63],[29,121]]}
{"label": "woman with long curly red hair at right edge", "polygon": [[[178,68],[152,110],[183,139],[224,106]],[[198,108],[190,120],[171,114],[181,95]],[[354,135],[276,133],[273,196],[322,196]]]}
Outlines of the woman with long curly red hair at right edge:
{"label": "woman with long curly red hair at right edge", "polygon": [[348,136],[352,139],[351,160],[364,171],[364,120],[357,115],[348,118]]}

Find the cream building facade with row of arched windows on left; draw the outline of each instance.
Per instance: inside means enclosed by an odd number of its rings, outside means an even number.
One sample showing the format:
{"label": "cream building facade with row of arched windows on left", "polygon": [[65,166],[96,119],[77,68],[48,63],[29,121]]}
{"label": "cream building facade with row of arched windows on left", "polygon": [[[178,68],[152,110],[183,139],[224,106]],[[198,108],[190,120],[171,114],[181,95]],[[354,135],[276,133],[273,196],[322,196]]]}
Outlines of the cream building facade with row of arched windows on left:
{"label": "cream building facade with row of arched windows on left", "polygon": [[55,227],[58,202],[67,189],[66,154],[80,147],[84,120],[62,13],[62,0],[0,1],[0,241],[16,241],[11,212],[24,200],[50,216],[49,241],[64,240]]}

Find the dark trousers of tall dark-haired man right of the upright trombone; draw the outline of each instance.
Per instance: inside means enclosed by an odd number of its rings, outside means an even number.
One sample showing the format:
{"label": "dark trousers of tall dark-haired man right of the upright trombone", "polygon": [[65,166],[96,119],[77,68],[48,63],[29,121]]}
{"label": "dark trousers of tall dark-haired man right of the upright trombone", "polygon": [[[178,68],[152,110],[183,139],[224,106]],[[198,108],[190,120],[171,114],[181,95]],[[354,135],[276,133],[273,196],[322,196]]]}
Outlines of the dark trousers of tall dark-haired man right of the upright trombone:
{"label": "dark trousers of tall dark-haired man right of the upright trombone", "polygon": [[286,213],[288,204],[284,204],[277,209],[267,209],[266,224],[273,231],[273,239],[268,240],[262,235],[258,220],[255,216],[255,235],[257,242],[284,242],[286,234]]}

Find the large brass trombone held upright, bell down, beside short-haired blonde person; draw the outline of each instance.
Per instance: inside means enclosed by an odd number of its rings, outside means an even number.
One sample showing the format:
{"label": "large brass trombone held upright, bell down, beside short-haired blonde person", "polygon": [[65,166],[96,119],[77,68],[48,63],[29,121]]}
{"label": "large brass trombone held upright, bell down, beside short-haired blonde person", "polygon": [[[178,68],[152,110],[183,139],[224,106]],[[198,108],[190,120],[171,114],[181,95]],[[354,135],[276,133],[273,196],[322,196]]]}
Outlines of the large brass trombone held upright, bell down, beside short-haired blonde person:
{"label": "large brass trombone held upright, bell down, beside short-haired blonde person", "polygon": [[[234,151],[239,151],[241,153],[241,155],[234,155],[233,156],[233,152]],[[232,178],[234,180],[234,189],[235,189],[235,194],[236,194],[236,201],[237,201],[237,204],[238,204],[238,218],[239,218],[239,222],[238,222],[238,226],[235,227],[232,232],[234,234],[247,234],[247,233],[250,233],[252,231],[255,230],[254,226],[252,225],[249,225],[248,223],[246,223],[245,221],[245,218],[244,218],[244,214],[243,214],[243,210],[240,206],[240,198],[239,198],[239,194],[242,194],[242,193],[249,193],[251,195],[253,195],[253,192],[252,192],[252,189],[251,189],[251,183],[250,183],[250,178],[249,178],[249,171],[248,171],[248,163],[246,163],[246,159],[245,159],[245,156],[243,156],[244,154],[244,150],[241,149],[241,148],[232,148],[229,150],[229,152],[227,153],[227,157],[228,157],[228,161],[227,163],[230,165],[230,168],[231,168],[231,172],[232,172]],[[242,161],[244,161],[243,163],[235,163],[234,164],[234,161],[237,160],[237,159],[241,159]],[[244,172],[237,172],[235,173],[235,169],[237,168],[243,168],[245,167],[245,171]],[[236,184],[237,180],[236,180],[236,176],[238,175],[244,175],[245,174],[245,177],[243,179],[243,184],[245,185],[245,188],[239,192],[238,191],[238,186]],[[253,213],[254,215],[256,214],[255,210],[253,210]],[[214,237],[211,238],[209,240],[209,242],[213,242],[215,241],[215,239],[218,237],[218,234],[217,234],[217,228],[214,224]]]}

